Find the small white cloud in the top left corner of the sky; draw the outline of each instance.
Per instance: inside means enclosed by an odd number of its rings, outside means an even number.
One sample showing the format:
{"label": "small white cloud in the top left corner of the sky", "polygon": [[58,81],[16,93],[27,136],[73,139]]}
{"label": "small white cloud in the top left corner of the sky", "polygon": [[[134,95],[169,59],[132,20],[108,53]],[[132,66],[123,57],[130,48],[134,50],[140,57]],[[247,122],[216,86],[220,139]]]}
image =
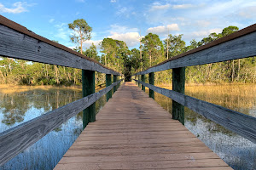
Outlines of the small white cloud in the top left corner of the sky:
{"label": "small white cloud in the top left corner of the sky", "polygon": [[28,10],[25,8],[28,5],[27,3],[17,2],[13,4],[13,8],[6,8],[2,3],[0,3],[0,13],[12,13],[12,14],[19,14],[23,12],[27,12]]}

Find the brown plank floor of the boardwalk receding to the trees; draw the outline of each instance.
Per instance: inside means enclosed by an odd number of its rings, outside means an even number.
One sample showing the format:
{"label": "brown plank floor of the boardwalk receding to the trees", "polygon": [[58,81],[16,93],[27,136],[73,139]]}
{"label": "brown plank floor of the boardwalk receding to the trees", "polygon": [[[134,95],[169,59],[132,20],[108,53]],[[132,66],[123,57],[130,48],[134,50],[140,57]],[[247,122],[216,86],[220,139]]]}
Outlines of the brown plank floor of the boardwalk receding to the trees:
{"label": "brown plank floor of the boardwalk receding to the trees", "polygon": [[172,120],[133,82],[125,82],[67,150],[57,169],[232,169]]}

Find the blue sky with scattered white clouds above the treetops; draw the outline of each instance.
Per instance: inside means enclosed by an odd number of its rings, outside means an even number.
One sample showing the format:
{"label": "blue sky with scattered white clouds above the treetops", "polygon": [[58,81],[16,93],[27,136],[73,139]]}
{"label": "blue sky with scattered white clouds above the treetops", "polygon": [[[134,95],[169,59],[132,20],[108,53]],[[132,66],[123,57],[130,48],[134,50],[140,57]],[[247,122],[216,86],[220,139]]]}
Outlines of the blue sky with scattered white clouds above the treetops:
{"label": "blue sky with scattered white clouds above the treetops", "polygon": [[160,39],[183,34],[183,40],[201,40],[226,26],[240,29],[256,23],[255,0],[0,0],[0,14],[35,33],[73,48],[67,27],[84,19],[92,27],[88,48],[104,37],[123,40],[129,48],[139,46],[140,31]]}

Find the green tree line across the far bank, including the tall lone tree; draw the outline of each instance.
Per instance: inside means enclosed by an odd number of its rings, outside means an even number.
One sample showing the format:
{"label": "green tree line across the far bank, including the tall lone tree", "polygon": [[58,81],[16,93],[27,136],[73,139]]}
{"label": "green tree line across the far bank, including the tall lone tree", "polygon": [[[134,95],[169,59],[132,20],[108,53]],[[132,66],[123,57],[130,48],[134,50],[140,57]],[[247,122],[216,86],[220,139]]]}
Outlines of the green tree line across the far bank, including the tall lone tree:
{"label": "green tree line across the far bank, including the tall lone tree", "polygon": [[[221,33],[212,32],[208,37],[196,42],[190,41],[189,45],[183,41],[183,35],[169,34],[163,41],[153,33],[148,33],[141,39],[141,45],[129,49],[124,41],[113,38],[104,38],[100,43],[98,54],[95,44],[90,48],[83,49],[83,42],[90,40],[92,28],[83,19],[74,20],[68,24],[73,30],[71,41],[78,44],[73,50],[95,59],[125,75],[129,80],[131,75],[137,71],[143,71],[152,65],[156,65],[177,54],[183,54],[193,48],[225,37],[238,31],[236,26],[228,26]],[[48,65],[35,62],[26,62],[20,59],[3,58],[0,60],[0,83],[22,84],[22,85],[81,85],[81,70],[58,65]],[[256,80],[255,57],[246,59],[228,60],[207,65],[195,65],[186,68],[187,83],[222,83],[242,82],[254,83]],[[172,70],[155,73],[155,83],[168,84],[172,81]],[[96,85],[105,82],[105,75],[96,72]]]}

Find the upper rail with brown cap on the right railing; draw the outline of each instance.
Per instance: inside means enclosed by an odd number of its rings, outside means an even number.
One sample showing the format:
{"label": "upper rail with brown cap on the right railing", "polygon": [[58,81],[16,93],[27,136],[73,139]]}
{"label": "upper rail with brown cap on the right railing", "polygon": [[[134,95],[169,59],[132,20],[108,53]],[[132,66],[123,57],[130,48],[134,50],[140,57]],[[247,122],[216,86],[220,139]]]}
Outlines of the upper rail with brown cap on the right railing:
{"label": "upper rail with brown cap on the right railing", "polygon": [[166,71],[173,68],[204,65],[230,59],[241,59],[256,55],[256,24],[236,31],[229,36],[219,38],[199,48],[166,59],[158,65],[134,74],[143,75],[150,72]]}

